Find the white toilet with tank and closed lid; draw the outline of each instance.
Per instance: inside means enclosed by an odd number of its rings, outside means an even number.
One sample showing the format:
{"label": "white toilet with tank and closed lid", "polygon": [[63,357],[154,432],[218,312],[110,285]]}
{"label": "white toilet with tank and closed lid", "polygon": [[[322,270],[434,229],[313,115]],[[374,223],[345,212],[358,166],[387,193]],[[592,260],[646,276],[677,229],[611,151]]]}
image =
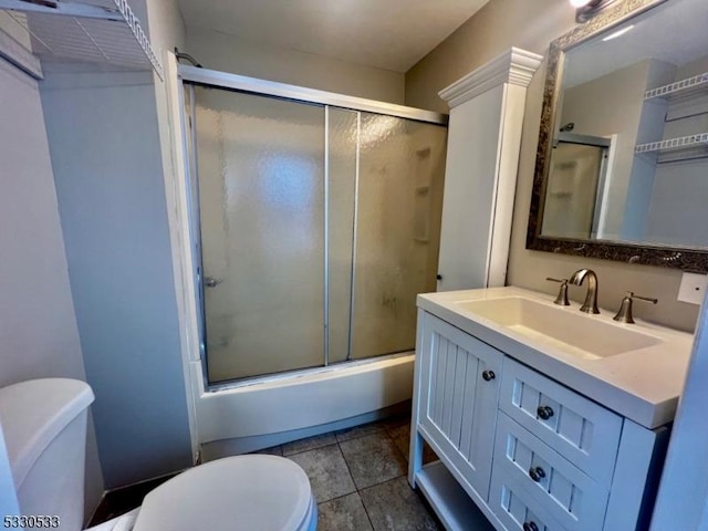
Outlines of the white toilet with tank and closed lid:
{"label": "white toilet with tank and closed lid", "polygon": [[[0,388],[0,424],[20,512],[58,516],[61,529],[83,522],[87,409],[84,382],[45,378]],[[91,531],[314,531],[316,503],[308,476],[266,455],[218,459],[150,491],[143,506]]]}

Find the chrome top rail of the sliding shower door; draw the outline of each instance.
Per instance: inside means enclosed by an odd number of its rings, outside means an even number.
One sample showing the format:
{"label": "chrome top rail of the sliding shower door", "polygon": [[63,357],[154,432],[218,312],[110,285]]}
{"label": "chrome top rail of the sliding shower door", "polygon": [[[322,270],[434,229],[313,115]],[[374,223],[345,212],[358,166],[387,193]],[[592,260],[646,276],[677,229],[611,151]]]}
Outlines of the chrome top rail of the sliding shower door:
{"label": "chrome top rail of the sliding shower door", "polygon": [[220,88],[233,88],[236,91],[250,92],[260,95],[283,97],[285,100],[298,100],[306,103],[319,103],[332,105],[334,107],[351,108],[368,113],[386,114],[400,118],[416,119],[418,122],[429,122],[433,124],[447,125],[448,115],[424,111],[393,103],[377,102],[364,97],[346,96],[334,92],[306,88],[304,86],[289,85],[274,81],[259,80],[244,75],[229,74],[216,70],[197,69],[186,64],[179,65],[179,76],[183,81],[204,85],[214,85]]}

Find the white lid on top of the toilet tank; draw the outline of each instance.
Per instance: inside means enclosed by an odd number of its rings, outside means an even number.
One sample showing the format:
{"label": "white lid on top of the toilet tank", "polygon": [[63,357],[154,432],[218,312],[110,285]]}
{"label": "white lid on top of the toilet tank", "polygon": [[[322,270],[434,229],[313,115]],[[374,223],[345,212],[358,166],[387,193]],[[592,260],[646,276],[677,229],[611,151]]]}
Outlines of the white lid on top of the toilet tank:
{"label": "white lid on top of the toilet tank", "polygon": [[0,427],[17,489],[50,442],[93,398],[88,384],[70,378],[30,379],[0,388]]}

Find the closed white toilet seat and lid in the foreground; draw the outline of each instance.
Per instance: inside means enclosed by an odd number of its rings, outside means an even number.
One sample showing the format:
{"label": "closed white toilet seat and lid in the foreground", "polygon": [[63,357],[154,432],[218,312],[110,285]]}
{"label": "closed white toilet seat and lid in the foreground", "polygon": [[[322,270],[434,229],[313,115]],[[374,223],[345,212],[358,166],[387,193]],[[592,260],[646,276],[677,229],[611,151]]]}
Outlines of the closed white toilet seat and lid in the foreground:
{"label": "closed white toilet seat and lid in the foreground", "polygon": [[133,531],[308,531],[316,504],[304,470],[275,456],[237,456],[183,472],[149,492]]}

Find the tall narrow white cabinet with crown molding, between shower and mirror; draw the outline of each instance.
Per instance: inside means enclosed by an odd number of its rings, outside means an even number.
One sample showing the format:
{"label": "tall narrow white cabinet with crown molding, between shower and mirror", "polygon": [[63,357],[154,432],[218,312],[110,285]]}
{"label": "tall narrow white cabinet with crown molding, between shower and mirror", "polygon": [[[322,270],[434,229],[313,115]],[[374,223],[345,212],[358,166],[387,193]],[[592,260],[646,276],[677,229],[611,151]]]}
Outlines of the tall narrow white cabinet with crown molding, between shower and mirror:
{"label": "tall narrow white cabinet with crown molding, between shower and mirror", "polygon": [[438,291],[506,283],[525,92],[541,60],[512,48],[440,92],[450,123]]}

